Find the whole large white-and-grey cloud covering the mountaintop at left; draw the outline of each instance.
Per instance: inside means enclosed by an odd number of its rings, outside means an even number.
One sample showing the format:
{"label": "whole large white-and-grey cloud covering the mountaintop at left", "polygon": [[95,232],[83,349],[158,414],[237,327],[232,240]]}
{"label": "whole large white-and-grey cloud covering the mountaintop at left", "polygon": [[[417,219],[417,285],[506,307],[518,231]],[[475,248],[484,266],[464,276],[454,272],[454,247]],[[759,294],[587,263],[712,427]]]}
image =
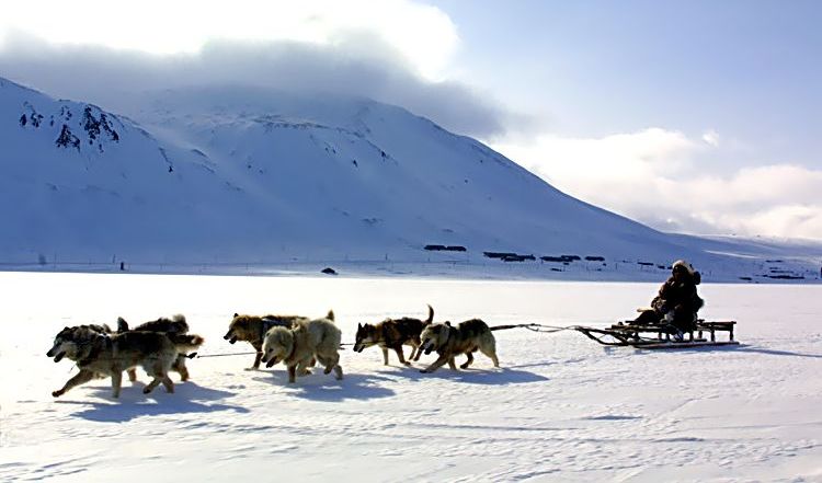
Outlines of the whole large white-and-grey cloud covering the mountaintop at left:
{"label": "whole large white-and-grey cloud covering the mountaintop at left", "polygon": [[472,87],[443,80],[459,45],[456,26],[412,0],[125,5],[4,5],[0,76],[112,111],[127,108],[137,92],[230,84],[369,97],[486,138],[533,123]]}

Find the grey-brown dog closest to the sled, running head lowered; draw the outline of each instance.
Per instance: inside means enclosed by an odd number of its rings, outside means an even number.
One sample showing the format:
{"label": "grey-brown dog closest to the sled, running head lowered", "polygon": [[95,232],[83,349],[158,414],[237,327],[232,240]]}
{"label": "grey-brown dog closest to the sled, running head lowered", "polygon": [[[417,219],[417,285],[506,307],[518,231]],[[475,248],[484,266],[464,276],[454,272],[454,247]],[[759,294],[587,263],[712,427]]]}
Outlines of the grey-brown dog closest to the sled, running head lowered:
{"label": "grey-brown dog closest to the sled, running head lowered", "polygon": [[449,322],[431,324],[422,331],[420,338],[422,340],[420,348],[425,352],[425,355],[431,354],[432,350],[439,354],[434,364],[420,372],[433,372],[445,363],[456,370],[454,358],[460,354],[468,357],[468,360],[459,366],[466,369],[473,363],[473,353],[478,349],[494,363],[494,367],[500,367],[500,361],[496,359],[496,340],[488,324],[479,319],[460,322],[456,327]]}

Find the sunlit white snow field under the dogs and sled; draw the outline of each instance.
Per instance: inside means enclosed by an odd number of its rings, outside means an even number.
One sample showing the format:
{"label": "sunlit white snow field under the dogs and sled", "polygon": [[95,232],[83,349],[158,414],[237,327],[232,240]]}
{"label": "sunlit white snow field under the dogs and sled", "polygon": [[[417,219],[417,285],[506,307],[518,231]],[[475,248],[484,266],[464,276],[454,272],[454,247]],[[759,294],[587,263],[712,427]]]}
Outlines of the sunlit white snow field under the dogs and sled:
{"label": "sunlit white snow field under the dogs and sled", "polygon": [[[703,315],[735,319],[737,348],[604,349],[573,332],[496,332],[501,368],[381,364],[344,350],[346,377],[289,386],[252,356],[199,358],[149,395],[107,381],[58,400],[76,369],[46,357],[65,325],[184,313],[201,354],[231,314],[388,315],[604,325],[657,284],[435,278],[0,273],[0,480],[822,481],[822,287],[700,286]],[[425,357],[430,360],[433,356]],[[422,361],[421,361],[422,363]],[[176,378],[176,375],[173,376]],[[140,375],[146,381],[145,375]]]}

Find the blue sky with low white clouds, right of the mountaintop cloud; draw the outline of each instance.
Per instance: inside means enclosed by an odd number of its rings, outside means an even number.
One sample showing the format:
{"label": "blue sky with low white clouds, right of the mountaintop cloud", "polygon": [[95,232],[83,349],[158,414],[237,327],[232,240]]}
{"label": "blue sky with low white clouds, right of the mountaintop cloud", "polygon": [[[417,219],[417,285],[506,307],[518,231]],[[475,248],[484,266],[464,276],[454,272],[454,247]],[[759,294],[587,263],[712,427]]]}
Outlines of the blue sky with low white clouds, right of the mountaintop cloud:
{"label": "blue sky with low white clouds, right of the mountaintop cloud", "polygon": [[430,4],[453,76],[536,116],[492,146],[558,187],[661,229],[822,238],[822,3]]}

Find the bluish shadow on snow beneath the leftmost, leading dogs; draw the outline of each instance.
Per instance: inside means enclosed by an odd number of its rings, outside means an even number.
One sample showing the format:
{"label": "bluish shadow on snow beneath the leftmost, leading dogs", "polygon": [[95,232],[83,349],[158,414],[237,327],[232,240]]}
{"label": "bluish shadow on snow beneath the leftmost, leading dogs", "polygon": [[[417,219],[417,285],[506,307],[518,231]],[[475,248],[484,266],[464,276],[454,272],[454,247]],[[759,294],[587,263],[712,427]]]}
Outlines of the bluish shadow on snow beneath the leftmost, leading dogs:
{"label": "bluish shadow on snow beneath the leftmost, leading dogs", "polygon": [[111,387],[94,388],[92,395],[109,400],[98,401],[55,401],[57,404],[77,404],[83,410],[73,416],[98,423],[125,423],[140,416],[159,416],[164,414],[214,413],[218,411],[233,411],[248,413],[242,406],[229,404],[207,404],[209,401],[220,401],[236,395],[235,392],[203,388],[191,381],[174,384],[174,393],[169,394],[163,388],[155,389],[150,394],[144,394],[146,384],[136,382],[123,386],[118,399],[112,398]]}

